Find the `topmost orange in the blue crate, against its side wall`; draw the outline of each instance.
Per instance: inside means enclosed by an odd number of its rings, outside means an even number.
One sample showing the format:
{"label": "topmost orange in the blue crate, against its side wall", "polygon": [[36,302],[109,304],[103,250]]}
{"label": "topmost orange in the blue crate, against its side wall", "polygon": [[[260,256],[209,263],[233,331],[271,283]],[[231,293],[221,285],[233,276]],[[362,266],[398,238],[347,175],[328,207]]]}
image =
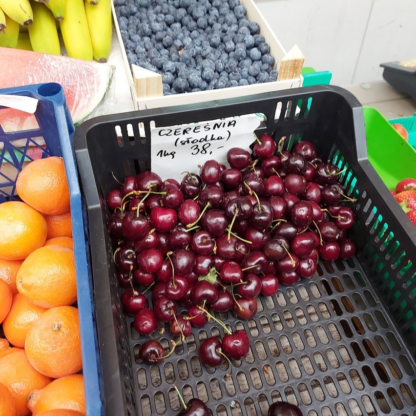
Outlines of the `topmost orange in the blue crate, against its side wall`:
{"label": "topmost orange in the blue crate, against its side wall", "polygon": [[26,204],[42,214],[58,215],[69,211],[69,187],[60,157],[34,160],[23,167],[16,190]]}

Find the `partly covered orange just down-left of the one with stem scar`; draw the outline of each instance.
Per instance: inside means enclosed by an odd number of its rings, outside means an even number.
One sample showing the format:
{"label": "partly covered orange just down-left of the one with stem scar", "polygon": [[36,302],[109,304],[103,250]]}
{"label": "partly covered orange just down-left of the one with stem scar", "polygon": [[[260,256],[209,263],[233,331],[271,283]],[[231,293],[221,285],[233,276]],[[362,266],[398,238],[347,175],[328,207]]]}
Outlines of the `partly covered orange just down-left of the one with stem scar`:
{"label": "partly covered orange just down-left of the one with stem scar", "polygon": [[30,415],[27,407],[28,395],[35,389],[43,389],[52,380],[31,366],[23,350],[12,350],[0,358],[0,383],[12,394],[16,415],[26,416]]}

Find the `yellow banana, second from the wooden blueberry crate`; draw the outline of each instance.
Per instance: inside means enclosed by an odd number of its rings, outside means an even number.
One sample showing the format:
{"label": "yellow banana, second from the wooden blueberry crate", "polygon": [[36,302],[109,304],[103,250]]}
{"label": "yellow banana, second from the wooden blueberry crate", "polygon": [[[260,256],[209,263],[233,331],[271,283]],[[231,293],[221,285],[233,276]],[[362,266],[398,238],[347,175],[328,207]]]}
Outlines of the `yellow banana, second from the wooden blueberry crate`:
{"label": "yellow banana, second from the wooden blueberry crate", "polygon": [[71,58],[92,61],[92,43],[83,0],[68,0],[60,22],[63,42]]}

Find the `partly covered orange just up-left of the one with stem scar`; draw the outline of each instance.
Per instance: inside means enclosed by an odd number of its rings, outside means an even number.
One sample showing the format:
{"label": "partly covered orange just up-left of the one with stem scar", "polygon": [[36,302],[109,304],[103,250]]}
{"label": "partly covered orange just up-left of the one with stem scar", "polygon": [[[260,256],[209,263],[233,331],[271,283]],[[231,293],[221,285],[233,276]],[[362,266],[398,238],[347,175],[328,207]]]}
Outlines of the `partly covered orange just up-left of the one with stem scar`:
{"label": "partly covered orange just up-left of the one with stem scar", "polygon": [[4,335],[15,347],[24,348],[24,340],[29,327],[45,311],[46,309],[34,305],[18,293],[13,298],[9,314],[4,319]]}

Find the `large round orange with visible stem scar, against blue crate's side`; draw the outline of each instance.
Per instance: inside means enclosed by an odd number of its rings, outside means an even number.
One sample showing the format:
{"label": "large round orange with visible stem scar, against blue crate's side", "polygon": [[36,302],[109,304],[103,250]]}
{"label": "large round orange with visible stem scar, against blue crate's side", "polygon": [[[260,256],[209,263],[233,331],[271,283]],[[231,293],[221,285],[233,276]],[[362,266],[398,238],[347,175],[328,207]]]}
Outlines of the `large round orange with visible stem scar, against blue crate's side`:
{"label": "large round orange with visible stem scar, against blue crate's side", "polygon": [[24,343],[27,359],[40,373],[58,378],[82,370],[78,309],[48,309],[31,325]]}

